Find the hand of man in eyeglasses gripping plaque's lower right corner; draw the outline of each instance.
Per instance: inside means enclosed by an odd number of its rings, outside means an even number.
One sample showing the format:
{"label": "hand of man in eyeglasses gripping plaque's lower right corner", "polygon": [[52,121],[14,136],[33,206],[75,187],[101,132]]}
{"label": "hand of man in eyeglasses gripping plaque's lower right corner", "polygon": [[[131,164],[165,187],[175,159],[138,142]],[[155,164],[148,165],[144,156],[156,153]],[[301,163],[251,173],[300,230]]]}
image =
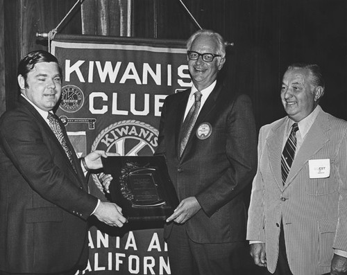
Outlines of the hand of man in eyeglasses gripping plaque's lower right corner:
{"label": "hand of man in eyeglasses gripping plaque's lower right corner", "polygon": [[187,199],[183,199],[183,201],[180,202],[174,214],[167,218],[167,222],[174,220],[174,222],[178,224],[183,224],[192,218],[200,209],[201,205],[198,203],[196,197],[187,197]]}

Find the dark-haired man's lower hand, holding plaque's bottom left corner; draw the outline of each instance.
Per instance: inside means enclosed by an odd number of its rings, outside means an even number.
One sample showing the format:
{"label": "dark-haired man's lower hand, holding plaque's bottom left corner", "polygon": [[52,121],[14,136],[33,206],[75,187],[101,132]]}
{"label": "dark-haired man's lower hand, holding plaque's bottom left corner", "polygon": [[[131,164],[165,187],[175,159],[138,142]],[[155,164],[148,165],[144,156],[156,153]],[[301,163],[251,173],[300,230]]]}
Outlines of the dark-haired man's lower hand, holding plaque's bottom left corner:
{"label": "dark-haired man's lower hand, holding plaque's bottom left corner", "polygon": [[123,227],[123,224],[128,222],[126,218],[121,215],[121,207],[111,202],[100,202],[94,215],[101,222],[111,227]]}

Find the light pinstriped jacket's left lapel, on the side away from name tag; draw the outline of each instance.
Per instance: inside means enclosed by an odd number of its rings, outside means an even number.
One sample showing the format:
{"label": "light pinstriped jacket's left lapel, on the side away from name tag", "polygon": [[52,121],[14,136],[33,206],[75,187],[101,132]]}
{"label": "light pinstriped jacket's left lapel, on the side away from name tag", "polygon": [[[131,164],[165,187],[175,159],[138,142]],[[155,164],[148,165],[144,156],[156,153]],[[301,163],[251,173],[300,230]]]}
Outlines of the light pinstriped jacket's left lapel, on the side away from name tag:
{"label": "light pinstriped jacket's left lapel, on the side away from name tag", "polygon": [[281,172],[281,155],[282,144],[285,132],[285,118],[282,119],[276,127],[273,128],[273,134],[267,140],[269,150],[269,165],[276,179],[278,187],[282,190],[282,172]]}

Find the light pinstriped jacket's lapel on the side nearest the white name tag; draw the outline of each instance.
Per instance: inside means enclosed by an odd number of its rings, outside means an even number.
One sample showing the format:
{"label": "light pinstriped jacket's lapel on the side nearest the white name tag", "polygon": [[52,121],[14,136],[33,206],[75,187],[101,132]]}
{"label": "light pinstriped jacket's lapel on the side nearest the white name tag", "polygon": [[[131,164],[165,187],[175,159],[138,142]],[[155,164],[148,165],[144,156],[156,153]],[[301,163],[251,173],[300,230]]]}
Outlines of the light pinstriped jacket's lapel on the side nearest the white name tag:
{"label": "light pinstriped jacket's lapel on the side nearest the white name tag", "polygon": [[298,175],[298,172],[305,166],[305,163],[329,141],[327,135],[329,130],[328,116],[323,111],[320,111],[310,130],[307,132],[301,148],[296,153],[285,187],[291,184],[291,181]]}

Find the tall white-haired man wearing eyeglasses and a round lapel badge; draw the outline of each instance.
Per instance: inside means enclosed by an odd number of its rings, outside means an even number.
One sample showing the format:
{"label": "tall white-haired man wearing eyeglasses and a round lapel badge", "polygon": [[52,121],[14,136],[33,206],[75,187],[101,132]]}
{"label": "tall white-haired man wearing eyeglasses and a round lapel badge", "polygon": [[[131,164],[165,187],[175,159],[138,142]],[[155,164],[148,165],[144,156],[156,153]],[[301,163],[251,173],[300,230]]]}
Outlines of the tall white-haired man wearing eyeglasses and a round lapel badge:
{"label": "tall white-haired man wearing eyeglasses and a round lapel badge", "polygon": [[251,100],[217,79],[226,62],[221,35],[198,30],[187,50],[192,88],[164,101],[156,152],[180,200],[164,227],[171,274],[244,274],[242,191],[257,159]]}

